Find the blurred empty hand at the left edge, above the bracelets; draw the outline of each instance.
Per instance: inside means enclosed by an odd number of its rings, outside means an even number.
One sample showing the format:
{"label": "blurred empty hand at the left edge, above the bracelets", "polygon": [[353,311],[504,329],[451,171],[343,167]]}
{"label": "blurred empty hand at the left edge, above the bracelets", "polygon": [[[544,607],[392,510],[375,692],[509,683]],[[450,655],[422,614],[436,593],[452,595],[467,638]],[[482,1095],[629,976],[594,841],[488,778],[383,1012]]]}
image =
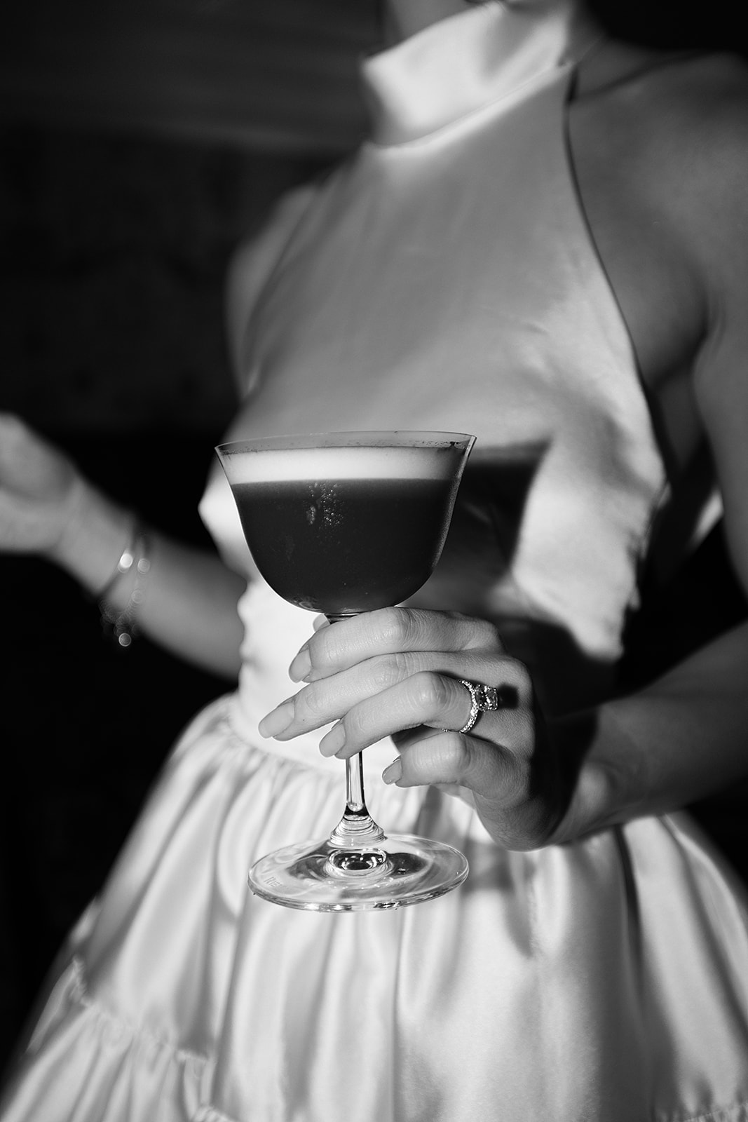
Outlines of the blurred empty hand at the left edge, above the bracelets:
{"label": "blurred empty hand at the left edge, above the bracelets", "polygon": [[0,549],[50,557],[75,521],[74,465],[11,414],[0,414]]}

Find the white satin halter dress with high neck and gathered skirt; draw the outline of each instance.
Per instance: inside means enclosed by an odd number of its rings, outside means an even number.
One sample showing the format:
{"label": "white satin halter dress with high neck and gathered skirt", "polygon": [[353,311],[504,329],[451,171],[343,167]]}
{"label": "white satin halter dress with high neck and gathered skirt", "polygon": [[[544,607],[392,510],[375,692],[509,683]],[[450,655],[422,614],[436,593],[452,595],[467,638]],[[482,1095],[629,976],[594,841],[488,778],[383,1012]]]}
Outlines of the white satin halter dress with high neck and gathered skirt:
{"label": "white satin halter dress with high neck and gathered skirt", "polygon": [[[668,502],[570,166],[572,17],[479,6],[367,61],[371,139],[239,268],[228,433],[474,433],[419,603],[498,619],[553,711],[610,687]],[[202,512],[249,578],[240,686],[73,932],[2,1122],[746,1122],[748,911],[686,816],[505,852],[468,797],[386,787],[382,743],[372,813],[461,848],[465,884],[342,916],[251,895],[252,861],[338,821],[343,765],[258,736],[311,616],[252,572],[219,470]]]}

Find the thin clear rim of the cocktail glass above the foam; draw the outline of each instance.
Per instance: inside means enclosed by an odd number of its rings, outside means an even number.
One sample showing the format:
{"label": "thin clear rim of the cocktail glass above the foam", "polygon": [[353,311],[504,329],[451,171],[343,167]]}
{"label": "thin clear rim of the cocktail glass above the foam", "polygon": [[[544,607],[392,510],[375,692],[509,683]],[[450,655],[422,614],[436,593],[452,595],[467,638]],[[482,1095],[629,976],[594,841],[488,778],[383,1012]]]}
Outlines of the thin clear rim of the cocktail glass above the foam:
{"label": "thin clear rim of the cocktail glass above the foam", "polygon": [[446,432],[438,429],[372,429],[341,430],[257,436],[250,440],[230,440],[215,445],[219,456],[239,456],[243,452],[280,451],[284,449],[314,448],[472,448],[475,436],[468,432]]}

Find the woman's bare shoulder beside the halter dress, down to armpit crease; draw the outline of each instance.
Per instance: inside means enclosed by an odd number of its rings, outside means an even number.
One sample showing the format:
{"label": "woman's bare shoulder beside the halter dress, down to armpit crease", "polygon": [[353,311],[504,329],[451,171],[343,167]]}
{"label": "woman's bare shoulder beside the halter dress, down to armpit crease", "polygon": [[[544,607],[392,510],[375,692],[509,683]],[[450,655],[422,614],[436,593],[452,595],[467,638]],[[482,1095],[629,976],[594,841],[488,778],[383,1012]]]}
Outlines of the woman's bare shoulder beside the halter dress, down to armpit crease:
{"label": "woman's bare shoulder beside the halter dress, down to armpit crease", "polygon": [[730,275],[748,267],[735,237],[748,220],[748,66],[606,40],[579,67],[569,121],[583,206],[656,388],[693,369]]}

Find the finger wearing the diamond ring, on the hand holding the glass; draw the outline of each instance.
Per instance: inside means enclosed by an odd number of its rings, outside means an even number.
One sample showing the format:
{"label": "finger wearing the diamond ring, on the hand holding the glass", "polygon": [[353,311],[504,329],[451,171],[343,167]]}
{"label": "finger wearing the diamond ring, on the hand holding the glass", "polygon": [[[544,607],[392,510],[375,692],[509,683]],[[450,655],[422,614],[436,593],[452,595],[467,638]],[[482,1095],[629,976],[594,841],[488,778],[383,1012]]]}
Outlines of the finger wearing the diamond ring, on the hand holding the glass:
{"label": "finger wearing the diamond ring, on the hand holding the glass", "polygon": [[[496,743],[504,743],[507,734],[507,715],[529,712],[532,690],[524,679],[525,668],[506,656],[501,660],[505,679],[514,677],[518,705],[512,710],[483,712],[478,735]],[[524,703],[519,702],[524,700]],[[386,736],[421,725],[437,729],[461,729],[472,709],[470,692],[459,679],[434,671],[422,670],[416,674],[353,705],[341,720],[320,742],[320,752],[347,758]]]}

